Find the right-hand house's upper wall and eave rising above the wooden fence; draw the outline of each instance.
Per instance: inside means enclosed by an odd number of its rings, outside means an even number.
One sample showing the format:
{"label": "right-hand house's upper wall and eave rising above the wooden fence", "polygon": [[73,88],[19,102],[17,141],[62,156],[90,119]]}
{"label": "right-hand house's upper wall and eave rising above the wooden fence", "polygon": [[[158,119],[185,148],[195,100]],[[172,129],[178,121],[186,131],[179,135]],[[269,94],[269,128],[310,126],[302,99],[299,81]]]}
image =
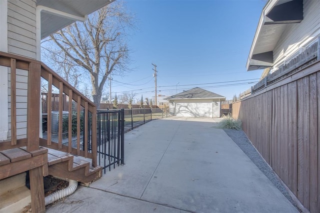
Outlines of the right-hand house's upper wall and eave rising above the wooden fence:
{"label": "right-hand house's upper wall and eave rising above the wooden fence", "polygon": [[269,0],[252,41],[247,70],[271,67],[270,75],[309,57],[305,53],[311,53],[308,48],[320,35],[319,7],[318,0]]}

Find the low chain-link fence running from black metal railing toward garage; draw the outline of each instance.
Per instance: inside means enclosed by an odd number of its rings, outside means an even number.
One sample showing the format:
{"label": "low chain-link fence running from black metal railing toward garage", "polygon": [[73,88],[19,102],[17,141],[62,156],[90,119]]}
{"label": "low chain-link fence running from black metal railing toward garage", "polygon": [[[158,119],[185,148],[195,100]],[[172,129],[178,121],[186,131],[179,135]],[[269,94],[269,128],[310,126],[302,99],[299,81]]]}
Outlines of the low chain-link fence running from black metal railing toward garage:
{"label": "low chain-link fence running from black metal railing toward garage", "polygon": [[166,115],[160,108],[124,109],[124,131],[128,132],[146,122],[164,116]]}

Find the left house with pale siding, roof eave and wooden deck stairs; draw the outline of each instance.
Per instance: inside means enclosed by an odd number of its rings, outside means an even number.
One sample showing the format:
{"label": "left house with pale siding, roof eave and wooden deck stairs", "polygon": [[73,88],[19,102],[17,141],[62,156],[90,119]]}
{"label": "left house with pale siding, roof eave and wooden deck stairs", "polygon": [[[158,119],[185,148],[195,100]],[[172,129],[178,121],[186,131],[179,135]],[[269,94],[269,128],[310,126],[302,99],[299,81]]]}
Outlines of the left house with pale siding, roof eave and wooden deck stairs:
{"label": "left house with pale siding, roof eave and wooden deck stairs", "polygon": [[[0,211],[13,211],[6,209],[5,205],[10,205],[6,201],[14,191],[19,192],[16,198],[26,200],[19,197],[28,194],[24,189],[21,191],[25,178],[19,174],[25,171],[29,171],[30,175],[32,212],[45,211],[42,176],[55,174],[86,183],[100,177],[101,168],[96,165],[94,151],[95,105],[40,61],[40,42],[76,20],[84,21],[88,14],[110,2],[112,0],[90,0],[89,3],[86,0],[0,0],[0,186],[9,186],[0,187]],[[79,139],[77,148],[62,145],[62,130],[59,130],[58,143],[51,142],[50,132],[45,139],[39,137],[41,77],[48,81],[49,88],[55,86],[59,89],[61,99],[64,94],[72,98],[78,104],[78,114],[80,110],[84,110],[85,115],[92,114],[93,127],[84,125],[86,131],[90,130],[92,135],[95,134],[88,139],[92,143],[92,151],[88,150],[88,147],[80,149]],[[51,90],[48,97],[51,101]],[[69,106],[71,118],[71,104]],[[50,102],[47,107],[50,119]],[[62,107],[59,107],[59,111],[62,116]],[[62,119],[59,125],[62,125]],[[70,134],[71,131],[69,136]],[[55,155],[51,155],[43,147],[60,152],[55,151]],[[91,162],[73,161],[75,157],[68,153],[89,158]],[[15,178],[16,175],[19,177]],[[6,192],[10,195],[5,194]],[[18,212],[18,208],[24,206],[15,203],[13,207],[17,208],[14,211]]]}

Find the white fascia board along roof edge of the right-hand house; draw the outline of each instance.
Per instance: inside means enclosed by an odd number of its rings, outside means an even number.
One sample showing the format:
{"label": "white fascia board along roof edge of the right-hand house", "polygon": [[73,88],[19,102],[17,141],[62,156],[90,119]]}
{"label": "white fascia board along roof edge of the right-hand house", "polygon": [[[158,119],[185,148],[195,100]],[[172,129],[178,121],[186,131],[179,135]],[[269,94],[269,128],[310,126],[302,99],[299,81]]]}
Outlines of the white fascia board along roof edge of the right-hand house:
{"label": "white fascia board along roof edge of the right-hand house", "polygon": [[265,6],[263,7],[262,9],[262,12],[261,12],[261,16],[260,16],[260,19],[259,19],[259,22],[258,22],[258,26],[255,30],[255,34],[254,34],[254,37],[253,37],[253,41],[252,41],[252,44],[251,44],[251,48],[250,48],[250,52],[249,52],[249,56],[248,56],[248,59],[246,61],[246,70],[249,71],[249,66],[250,66],[250,59],[252,58],[252,55],[253,55],[253,50],[254,50],[254,47],[256,45],[256,41],[258,40],[258,37],[260,35],[260,31],[261,31],[261,28],[264,24],[264,22],[266,21],[265,20],[265,14],[267,14],[274,6],[275,4],[278,2],[278,0],[269,0]]}

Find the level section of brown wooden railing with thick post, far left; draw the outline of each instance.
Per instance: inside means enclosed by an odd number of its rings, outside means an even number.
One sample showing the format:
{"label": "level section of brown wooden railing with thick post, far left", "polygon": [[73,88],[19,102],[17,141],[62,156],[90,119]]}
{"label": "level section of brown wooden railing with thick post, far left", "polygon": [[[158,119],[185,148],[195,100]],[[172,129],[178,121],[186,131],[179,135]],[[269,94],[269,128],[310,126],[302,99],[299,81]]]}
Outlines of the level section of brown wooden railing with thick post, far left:
{"label": "level section of brown wooden railing with thick post, far left", "polygon": [[[40,69],[36,60],[0,52],[0,65],[10,67],[10,105],[11,135],[10,139],[0,142],[0,150],[26,146],[27,151],[39,148],[39,107],[40,107]],[[16,70],[27,70],[27,127],[26,138],[17,139],[16,123]],[[1,73],[6,78],[7,73]]]}

